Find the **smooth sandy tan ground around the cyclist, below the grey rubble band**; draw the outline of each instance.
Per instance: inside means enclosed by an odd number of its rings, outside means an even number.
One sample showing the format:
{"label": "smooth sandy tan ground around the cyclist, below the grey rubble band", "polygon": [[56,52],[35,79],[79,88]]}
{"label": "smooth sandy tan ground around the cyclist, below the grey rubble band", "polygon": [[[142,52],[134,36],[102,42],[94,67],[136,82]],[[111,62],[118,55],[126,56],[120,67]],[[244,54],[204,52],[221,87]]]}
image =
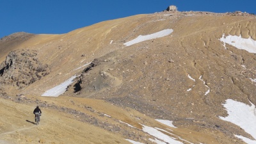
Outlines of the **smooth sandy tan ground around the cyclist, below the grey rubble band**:
{"label": "smooth sandy tan ground around the cyclist, below the grey rubble band", "polygon": [[4,116],[0,120],[0,139],[10,143],[129,143],[120,134],[86,124],[72,113],[60,111],[60,108],[67,109],[61,104],[56,106],[52,100],[45,102],[50,106],[41,107],[42,120],[36,126],[33,118],[35,103],[29,106],[1,99],[1,115]]}

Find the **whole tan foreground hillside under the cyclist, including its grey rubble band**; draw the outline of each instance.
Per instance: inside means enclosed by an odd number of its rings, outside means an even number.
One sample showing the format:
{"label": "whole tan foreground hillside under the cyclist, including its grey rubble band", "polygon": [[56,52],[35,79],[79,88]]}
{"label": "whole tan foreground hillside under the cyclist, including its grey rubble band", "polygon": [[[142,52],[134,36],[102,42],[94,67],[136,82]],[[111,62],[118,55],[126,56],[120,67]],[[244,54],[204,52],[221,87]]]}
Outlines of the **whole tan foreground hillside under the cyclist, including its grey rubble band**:
{"label": "whole tan foreground hillside under the cyclist, including its grey rubble band", "polygon": [[[33,117],[36,102],[42,109],[38,126]],[[118,108],[102,100],[26,97],[19,102],[1,99],[0,104],[4,115],[0,118],[0,140],[6,143],[129,143],[125,139],[152,143],[149,139],[155,138],[150,132],[143,132],[149,127],[160,129],[162,136],[170,136],[170,140],[184,143],[218,143],[214,136],[223,139],[223,134],[212,136],[168,127],[138,111]]]}

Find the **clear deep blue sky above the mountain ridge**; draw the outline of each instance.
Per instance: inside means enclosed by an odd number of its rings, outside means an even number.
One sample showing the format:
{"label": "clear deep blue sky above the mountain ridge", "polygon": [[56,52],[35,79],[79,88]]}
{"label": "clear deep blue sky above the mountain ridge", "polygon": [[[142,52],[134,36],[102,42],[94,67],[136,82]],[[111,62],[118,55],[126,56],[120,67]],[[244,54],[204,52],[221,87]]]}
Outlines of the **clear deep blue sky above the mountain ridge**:
{"label": "clear deep blue sky above the mountain ridge", "polygon": [[179,11],[256,14],[256,0],[0,0],[0,38],[20,31],[67,33],[104,20],[162,12],[169,5]]}

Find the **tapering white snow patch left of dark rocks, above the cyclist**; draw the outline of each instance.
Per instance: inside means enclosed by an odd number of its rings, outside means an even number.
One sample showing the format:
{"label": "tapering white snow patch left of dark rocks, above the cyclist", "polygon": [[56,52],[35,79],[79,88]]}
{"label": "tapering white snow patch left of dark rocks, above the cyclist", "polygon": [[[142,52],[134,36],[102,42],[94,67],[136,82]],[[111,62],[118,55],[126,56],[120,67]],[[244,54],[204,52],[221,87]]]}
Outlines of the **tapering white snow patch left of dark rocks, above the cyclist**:
{"label": "tapering white snow patch left of dark rocks, above the cyclist", "polygon": [[76,76],[70,77],[67,81],[64,81],[58,86],[55,86],[54,88],[51,88],[50,90],[47,90],[44,94],[41,96],[49,96],[49,97],[58,97],[62,93],[64,93],[67,89],[67,86],[69,84],[72,84],[73,79],[76,78]]}

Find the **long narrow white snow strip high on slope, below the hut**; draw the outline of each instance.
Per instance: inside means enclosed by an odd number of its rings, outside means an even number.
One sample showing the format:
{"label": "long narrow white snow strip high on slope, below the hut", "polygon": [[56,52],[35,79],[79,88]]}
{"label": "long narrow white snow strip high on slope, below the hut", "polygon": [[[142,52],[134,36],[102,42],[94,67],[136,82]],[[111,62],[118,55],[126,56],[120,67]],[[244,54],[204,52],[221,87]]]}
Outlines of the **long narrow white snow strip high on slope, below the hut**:
{"label": "long narrow white snow strip high on slope, below the hut", "polygon": [[164,29],[163,31],[159,31],[157,33],[152,33],[150,35],[139,35],[137,38],[129,41],[129,42],[125,42],[124,45],[126,46],[130,46],[130,45],[133,45],[133,44],[137,44],[139,42],[144,42],[146,40],[152,40],[154,38],[161,38],[163,36],[167,36],[167,35],[170,35],[171,33],[173,32],[173,29]]}

